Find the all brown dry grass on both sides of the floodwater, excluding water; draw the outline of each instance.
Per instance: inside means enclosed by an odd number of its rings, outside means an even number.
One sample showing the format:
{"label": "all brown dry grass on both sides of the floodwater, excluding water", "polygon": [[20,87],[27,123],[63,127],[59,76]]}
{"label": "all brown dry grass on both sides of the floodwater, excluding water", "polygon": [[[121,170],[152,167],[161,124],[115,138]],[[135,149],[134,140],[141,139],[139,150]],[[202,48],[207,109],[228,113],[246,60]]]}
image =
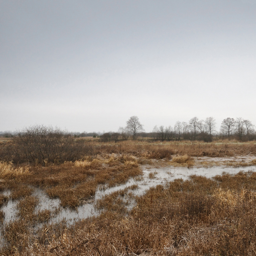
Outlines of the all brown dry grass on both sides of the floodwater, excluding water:
{"label": "all brown dry grass on both sides of the floodwater, excluding water", "polygon": [[[60,198],[62,206],[76,208],[93,198],[98,186],[108,188],[131,177],[141,179],[140,164],[191,166],[194,157],[256,155],[254,143],[91,144],[93,155],[80,161],[29,168],[1,162],[1,185],[12,193],[40,186],[49,196]],[[49,220],[54,214],[49,210],[36,215],[38,200],[31,192],[16,193],[21,195],[17,196],[18,219],[2,227],[6,245],[0,254],[256,255],[255,173],[213,179],[193,175],[186,181],[158,185],[140,197],[134,196],[137,188],[104,196],[95,203],[98,217],[69,227],[66,222],[52,224]],[[39,222],[41,226],[35,230]]]}

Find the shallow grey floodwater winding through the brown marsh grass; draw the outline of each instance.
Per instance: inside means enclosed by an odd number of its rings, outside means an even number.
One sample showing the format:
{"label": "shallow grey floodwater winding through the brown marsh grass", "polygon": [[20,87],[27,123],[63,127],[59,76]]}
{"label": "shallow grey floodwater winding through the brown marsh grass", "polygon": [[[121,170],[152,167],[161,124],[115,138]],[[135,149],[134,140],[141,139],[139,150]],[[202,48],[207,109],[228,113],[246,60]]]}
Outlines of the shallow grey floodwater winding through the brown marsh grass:
{"label": "shallow grey floodwater winding through the brown marsh grass", "polygon": [[[186,168],[186,167],[160,167],[154,168],[151,166],[143,166],[143,176],[130,179],[127,183],[120,186],[115,186],[112,188],[102,189],[99,187],[96,191],[94,199],[85,203],[82,206],[79,206],[76,210],[70,208],[60,207],[59,199],[51,199],[46,193],[40,188],[34,188],[33,196],[39,198],[39,204],[36,207],[36,211],[42,211],[45,209],[55,211],[55,215],[50,220],[50,223],[55,223],[60,220],[65,219],[67,223],[72,224],[75,221],[85,219],[91,216],[97,216],[99,211],[94,209],[94,203],[101,199],[104,195],[110,194],[112,192],[123,190],[129,186],[137,185],[138,189],[134,190],[135,195],[143,195],[150,187],[155,187],[159,184],[165,185],[167,182],[173,181],[174,179],[182,178],[188,179],[190,175],[202,175],[207,178],[213,177],[215,175],[220,175],[223,172],[229,174],[236,174],[240,171],[256,171],[255,167],[211,167],[211,168]],[[151,178],[150,178],[151,177]],[[10,191],[5,191],[5,195],[10,194]],[[18,201],[12,201],[11,199],[7,205],[3,206],[1,210],[5,213],[4,224],[7,224],[9,221],[16,219],[16,205]],[[131,208],[131,206],[129,207]]]}

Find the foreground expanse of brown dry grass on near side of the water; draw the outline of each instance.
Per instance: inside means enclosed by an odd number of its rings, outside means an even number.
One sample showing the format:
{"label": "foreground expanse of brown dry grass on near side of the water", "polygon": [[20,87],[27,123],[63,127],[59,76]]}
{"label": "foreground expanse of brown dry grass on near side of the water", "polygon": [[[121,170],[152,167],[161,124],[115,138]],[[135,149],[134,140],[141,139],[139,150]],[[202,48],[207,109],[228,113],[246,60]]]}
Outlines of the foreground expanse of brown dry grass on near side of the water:
{"label": "foreground expanse of brown dry grass on near side of the water", "polygon": [[70,228],[43,226],[40,239],[26,233],[26,223],[13,222],[5,230],[9,249],[2,254],[255,255],[255,173],[177,179],[136,197],[127,211],[136,188],[103,197],[97,207],[104,211],[96,218]]}

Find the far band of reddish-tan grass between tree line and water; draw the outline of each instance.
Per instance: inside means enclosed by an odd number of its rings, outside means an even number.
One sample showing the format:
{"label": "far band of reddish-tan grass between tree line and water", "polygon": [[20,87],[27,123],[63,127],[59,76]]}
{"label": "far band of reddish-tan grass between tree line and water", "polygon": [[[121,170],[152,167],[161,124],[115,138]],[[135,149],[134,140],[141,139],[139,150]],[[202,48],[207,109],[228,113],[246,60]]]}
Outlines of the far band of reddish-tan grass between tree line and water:
{"label": "far band of reddish-tan grass between tree line and water", "polygon": [[93,142],[96,154],[132,154],[149,159],[170,158],[173,155],[192,157],[230,157],[234,155],[256,155],[255,142],[165,142],[126,141],[118,144]]}

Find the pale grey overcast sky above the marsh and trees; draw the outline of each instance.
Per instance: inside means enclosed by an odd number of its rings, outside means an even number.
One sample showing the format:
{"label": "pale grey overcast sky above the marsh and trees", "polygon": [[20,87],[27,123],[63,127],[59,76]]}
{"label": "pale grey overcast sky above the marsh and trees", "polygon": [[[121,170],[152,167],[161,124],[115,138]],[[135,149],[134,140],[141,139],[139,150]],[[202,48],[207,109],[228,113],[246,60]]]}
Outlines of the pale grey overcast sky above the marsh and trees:
{"label": "pale grey overcast sky above the marsh and trees", "polygon": [[255,0],[0,0],[0,131],[256,125]]}

